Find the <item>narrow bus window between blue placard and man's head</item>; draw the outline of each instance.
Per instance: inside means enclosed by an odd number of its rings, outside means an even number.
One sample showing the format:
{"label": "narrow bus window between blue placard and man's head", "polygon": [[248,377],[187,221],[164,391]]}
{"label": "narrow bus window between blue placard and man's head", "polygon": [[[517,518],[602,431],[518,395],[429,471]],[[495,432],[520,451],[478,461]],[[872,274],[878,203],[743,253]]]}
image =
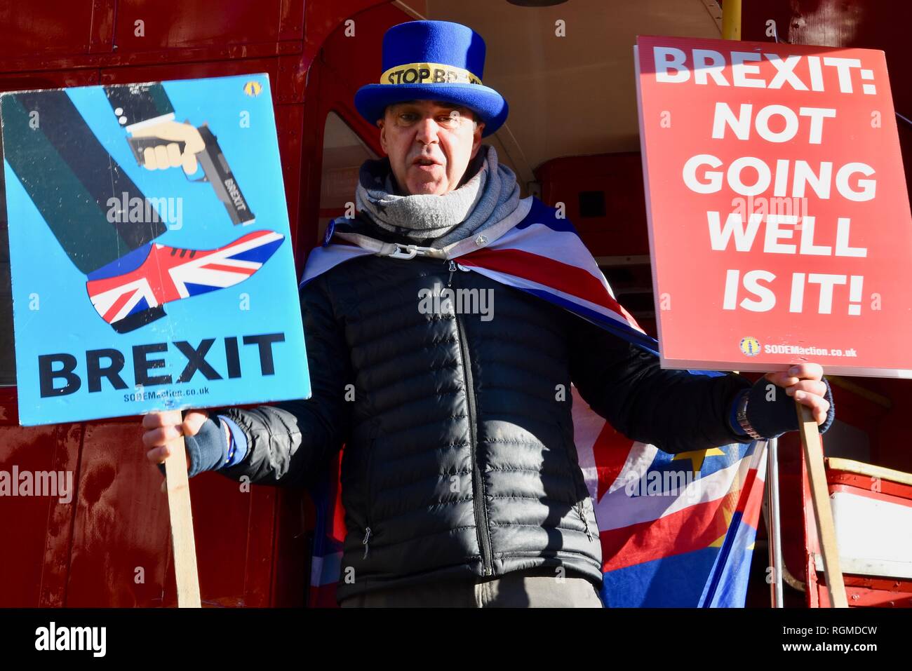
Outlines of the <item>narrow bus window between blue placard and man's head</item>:
{"label": "narrow bus window between blue placard and man's head", "polygon": [[323,242],[326,224],[331,219],[343,217],[346,213],[354,214],[358,170],[365,160],[377,158],[377,154],[368,149],[336,112],[326,115],[316,243]]}

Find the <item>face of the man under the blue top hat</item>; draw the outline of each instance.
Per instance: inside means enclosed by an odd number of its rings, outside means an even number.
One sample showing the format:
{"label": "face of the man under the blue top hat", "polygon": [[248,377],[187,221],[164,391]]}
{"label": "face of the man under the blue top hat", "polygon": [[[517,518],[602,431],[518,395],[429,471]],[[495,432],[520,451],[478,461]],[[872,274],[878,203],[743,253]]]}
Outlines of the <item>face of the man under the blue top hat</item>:
{"label": "face of the man under the blue top hat", "polygon": [[447,102],[410,100],[386,108],[378,119],[380,145],[399,188],[409,195],[443,195],[460,185],[482,146],[472,110]]}

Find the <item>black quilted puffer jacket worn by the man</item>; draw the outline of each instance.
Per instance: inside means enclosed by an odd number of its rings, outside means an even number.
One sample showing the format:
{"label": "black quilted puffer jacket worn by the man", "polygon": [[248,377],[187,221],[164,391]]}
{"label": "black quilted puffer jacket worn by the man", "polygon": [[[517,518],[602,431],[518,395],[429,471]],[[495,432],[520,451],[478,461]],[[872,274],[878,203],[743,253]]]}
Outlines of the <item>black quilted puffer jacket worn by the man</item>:
{"label": "black quilted puffer jacket worn by the man", "polygon": [[[435,283],[490,292],[492,318],[423,313],[419,292]],[[580,317],[447,261],[347,261],[305,285],[301,308],[313,397],[228,409],[249,450],[220,472],[306,485],[345,443],[340,600],[537,566],[600,584],[571,381],[617,430],[660,449],[747,440],[726,421],[747,378],[662,370]]]}

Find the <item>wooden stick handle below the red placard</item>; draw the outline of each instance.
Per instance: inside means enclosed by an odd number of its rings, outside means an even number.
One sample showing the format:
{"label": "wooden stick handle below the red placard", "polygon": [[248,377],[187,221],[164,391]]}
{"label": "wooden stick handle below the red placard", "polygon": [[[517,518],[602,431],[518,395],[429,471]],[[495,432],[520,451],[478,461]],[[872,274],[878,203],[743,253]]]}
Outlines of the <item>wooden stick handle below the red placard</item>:
{"label": "wooden stick handle below the red placard", "polygon": [[807,463],[811,500],[814,502],[814,520],[817,522],[817,538],[820,540],[820,552],[824,560],[824,576],[826,589],[830,593],[830,607],[848,608],[843,572],[839,566],[839,550],[836,547],[833,509],[830,508],[830,491],[826,486],[824,446],[820,440],[820,429],[811,414],[811,408],[797,400],[795,407],[798,410],[801,444],[804,449],[804,461]]}

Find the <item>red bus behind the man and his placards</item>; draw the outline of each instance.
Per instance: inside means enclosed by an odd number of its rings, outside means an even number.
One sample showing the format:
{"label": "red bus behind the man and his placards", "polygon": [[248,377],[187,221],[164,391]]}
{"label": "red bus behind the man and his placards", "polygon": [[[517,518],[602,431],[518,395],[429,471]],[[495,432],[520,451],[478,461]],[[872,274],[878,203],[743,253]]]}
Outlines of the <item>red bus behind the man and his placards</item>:
{"label": "red bus behind the man and his placards", "polygon": [[[912,9],[861,0],[723,5],[714,0],[186,0],[167,9],[152,0],[7,4],[0,8],[5,26],[0,90],[268,73],[300,273],[326,222],[342,215],[352,200],[360,164],[380,154],[378,129],[358,116],[353,96],[378,75],[386,29],[414,18],[472,26],[488,45],[485,81],[503,91],[511,106],[507,124],[487,141],[515,171],[523,196],[565,203],[618,300],[655,336],[633,74],[637,34],[718,38],[725,10],[726,30],[737,28],[743,39],[883,49],[902,115],[907,177],[912,169],[912,82],[907,64],[897,60]],[[560,22],[565,35],[582,38],[562,41]],[[144,456],[140,418],[18,426],[6,230],[4,212],[0,468],[71,471],[75,491],[70,501],[0,500],[5,569],[0,606],[175,605],[168,504],[161,477]],[[885,479],[885,494],[909,504],[912,450],[900,437],[912,384],[863,377],[831,377],[831,382],[837,419],[824,444],[831,490],[864,487],[876,472]],[[780,439],[779,451],[784,604],[826,604],[798,435]],[[212,473],[191,482],[203,605],[306,605],[314,529],[306,493],[255,485],[241,492]],[[747,605],[770,605],[766,536],[762,525]],[[912,605],[912,556],[908,561],[905,567],[844,566],[849,604]]]}

